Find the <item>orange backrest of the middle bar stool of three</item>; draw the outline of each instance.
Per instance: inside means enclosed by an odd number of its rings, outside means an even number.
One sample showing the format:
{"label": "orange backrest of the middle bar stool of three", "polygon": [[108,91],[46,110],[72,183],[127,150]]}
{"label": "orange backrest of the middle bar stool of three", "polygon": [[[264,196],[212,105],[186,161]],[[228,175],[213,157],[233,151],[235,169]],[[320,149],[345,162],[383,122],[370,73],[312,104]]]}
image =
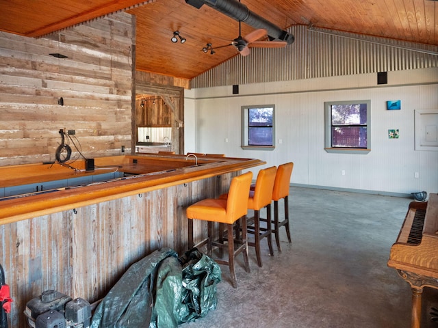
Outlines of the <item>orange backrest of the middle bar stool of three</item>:
{"label": "orange backrest of the middle bar stool of three", "polygon": [[275,166],[259,171],[257,180],[255,181],[255,189],[250,192],[250,196],[253,193],[253,204],[248,204],[248,208],[259,210],[272,202],[272,189],[274,188],[275,176]]}

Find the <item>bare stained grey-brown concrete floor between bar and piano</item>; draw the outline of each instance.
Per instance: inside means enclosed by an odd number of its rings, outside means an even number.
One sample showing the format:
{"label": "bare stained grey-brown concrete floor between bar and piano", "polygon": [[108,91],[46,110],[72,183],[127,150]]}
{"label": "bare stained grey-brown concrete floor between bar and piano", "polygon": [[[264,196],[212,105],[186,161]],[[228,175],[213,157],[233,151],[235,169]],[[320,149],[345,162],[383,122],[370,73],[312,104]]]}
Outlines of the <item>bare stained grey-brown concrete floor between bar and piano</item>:
{"label": "bare stained grey-brown concrete floor between bar and piano", "polygon": [[[408,328],[411,288],[387,267],[411,199],[291,187],[292,244],[263,267],[250,247],[250,269],[237,257],[237,289],[221,266],[218,306],[181,328]],[[283,205],[283,202],[280,204]]]}

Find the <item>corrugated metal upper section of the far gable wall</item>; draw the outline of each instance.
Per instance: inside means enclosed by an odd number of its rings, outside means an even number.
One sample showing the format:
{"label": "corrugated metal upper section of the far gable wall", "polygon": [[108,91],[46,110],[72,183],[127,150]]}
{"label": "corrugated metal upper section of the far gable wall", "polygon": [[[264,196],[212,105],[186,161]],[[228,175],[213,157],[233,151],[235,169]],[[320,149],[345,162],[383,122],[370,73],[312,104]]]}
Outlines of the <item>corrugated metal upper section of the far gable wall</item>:
{"label": "corrugated metal upper section of the far gable wall", "polygon": [[[216,87],[438,67],[438,47],[353,33],[291,27],[285,49],[251,49],[192,79],[190,87]],[[411,50],[411,49],[415,49]]]}

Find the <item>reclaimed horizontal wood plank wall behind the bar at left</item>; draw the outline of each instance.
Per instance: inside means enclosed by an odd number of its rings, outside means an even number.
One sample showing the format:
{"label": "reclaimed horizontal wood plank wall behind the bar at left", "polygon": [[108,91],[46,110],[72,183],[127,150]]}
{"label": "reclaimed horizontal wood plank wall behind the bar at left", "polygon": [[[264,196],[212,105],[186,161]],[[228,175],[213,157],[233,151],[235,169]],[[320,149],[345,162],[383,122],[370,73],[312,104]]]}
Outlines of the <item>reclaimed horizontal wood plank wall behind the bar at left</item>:
{"label": "reclaimed horizontal wood plank wall behind the bar at left", "polygon": [[53,161],[61,128],[86,157],[129,154],[134,36],[126,13],[38,39],[0,32],[0,166]]}

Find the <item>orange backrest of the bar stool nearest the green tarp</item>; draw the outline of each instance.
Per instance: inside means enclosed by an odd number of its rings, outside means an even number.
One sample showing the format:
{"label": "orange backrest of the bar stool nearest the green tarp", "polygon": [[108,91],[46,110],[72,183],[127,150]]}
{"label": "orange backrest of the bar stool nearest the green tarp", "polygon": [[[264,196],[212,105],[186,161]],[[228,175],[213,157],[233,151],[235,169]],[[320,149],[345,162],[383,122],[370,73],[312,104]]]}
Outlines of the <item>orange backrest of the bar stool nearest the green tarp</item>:
{"label": "orange backrest of the bar stool nearest the green tarp", "polygon": [[248,212],[248,193],[252,179],[253,172],[246,172],[231,180],[227,198],[227,217],[230,223]]}

